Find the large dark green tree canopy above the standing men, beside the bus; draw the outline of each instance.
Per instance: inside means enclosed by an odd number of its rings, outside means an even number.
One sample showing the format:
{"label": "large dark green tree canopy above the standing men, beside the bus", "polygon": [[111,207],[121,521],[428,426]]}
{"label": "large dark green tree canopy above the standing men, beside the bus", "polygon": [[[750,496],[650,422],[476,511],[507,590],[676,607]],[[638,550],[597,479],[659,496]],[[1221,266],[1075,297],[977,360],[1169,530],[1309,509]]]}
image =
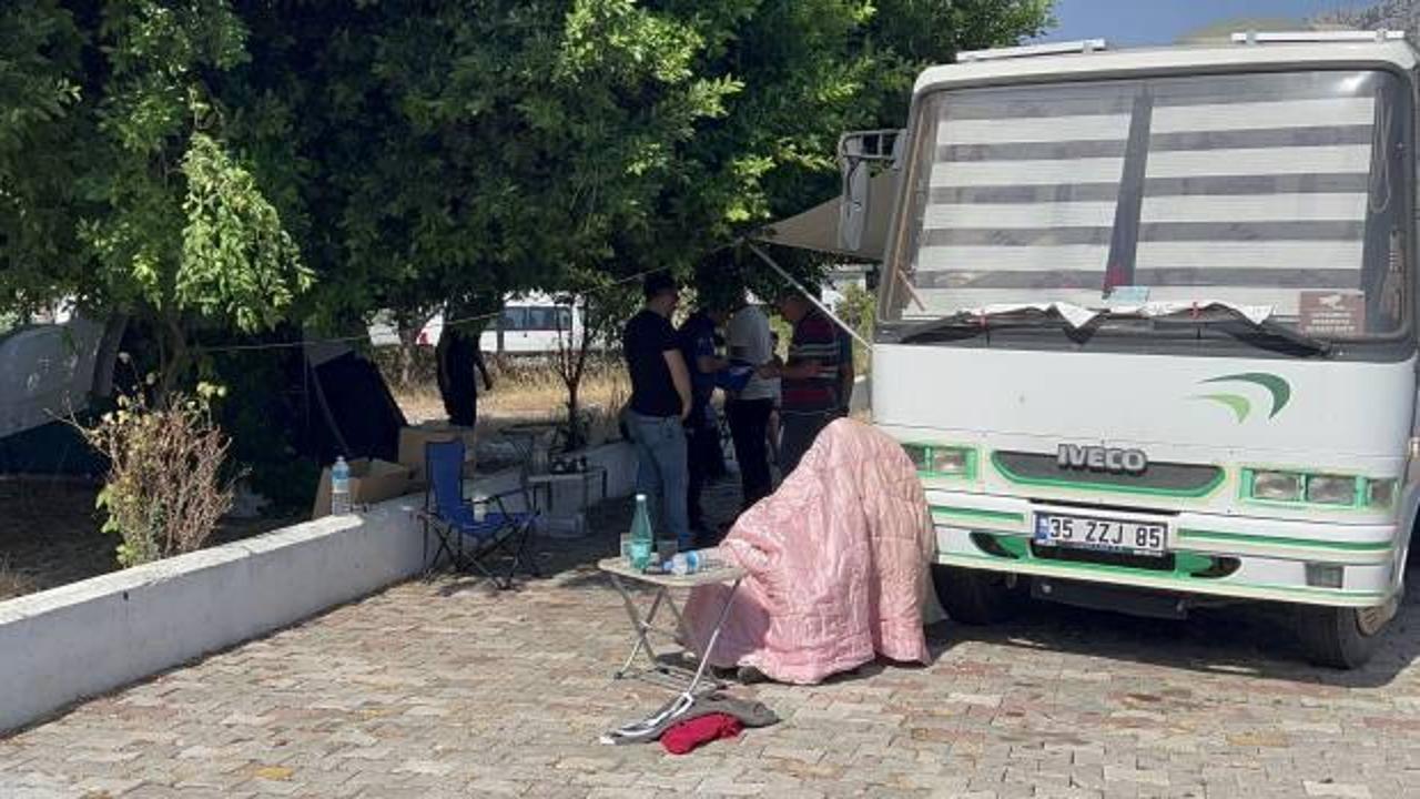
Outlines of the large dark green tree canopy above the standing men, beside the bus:
{"label": "large dark green tree canopy above the standing men, beside the bus", "polygon": [[332,87],[304,136],[341,202],[331,316],[684,276],[832,195],[838,134],[900,125],[924,64],[1047,21],[1044,0],[342,9],[284,27]]}

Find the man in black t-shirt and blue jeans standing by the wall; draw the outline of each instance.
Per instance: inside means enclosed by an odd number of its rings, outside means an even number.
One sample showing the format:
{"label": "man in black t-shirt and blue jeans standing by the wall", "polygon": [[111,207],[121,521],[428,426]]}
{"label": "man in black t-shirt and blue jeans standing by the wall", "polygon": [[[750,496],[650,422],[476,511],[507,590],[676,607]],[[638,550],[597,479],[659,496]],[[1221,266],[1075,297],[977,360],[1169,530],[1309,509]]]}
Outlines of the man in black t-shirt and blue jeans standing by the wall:
{"label": "man in black t-shirt and blue jeans standing by the wall", "polygon": [[666,530],[682,549],[693,549],[686,489],[684,419],[690,415],[690,371],[670,314],[680,304],[674,280],[666,273],[646,277],[646,304],[626,323],[622,350],[630,372],[630,408],[626,414],[636,444],[636,492],[656,502]]}

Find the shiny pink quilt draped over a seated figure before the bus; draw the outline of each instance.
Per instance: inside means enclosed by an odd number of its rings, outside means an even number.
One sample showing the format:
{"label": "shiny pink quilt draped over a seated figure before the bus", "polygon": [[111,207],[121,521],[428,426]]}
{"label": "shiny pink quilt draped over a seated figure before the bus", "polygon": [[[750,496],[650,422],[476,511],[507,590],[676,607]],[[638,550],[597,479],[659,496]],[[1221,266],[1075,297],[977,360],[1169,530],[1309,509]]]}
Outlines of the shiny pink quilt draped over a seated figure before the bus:
{"label": "shiny pink quilt draped over a seated figure before the bus", "polygon": [[[876,655],[926,663],[932,546],[927,500],[902,446],[861,422],[834,422],[726,536],[721,550],[748,576],[711,664],[812,684]],[[697,651],[724,591],[703,586],[690,596],[686,624]]]}

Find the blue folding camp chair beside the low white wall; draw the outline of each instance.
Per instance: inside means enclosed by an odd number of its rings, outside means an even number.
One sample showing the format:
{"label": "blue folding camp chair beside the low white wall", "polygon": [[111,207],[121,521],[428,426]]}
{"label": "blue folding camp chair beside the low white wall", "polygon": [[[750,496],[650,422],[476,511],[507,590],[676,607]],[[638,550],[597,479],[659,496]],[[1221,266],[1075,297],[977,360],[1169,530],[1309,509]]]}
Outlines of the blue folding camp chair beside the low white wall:
{"label": "blue folding camp chair beside the low white wall", "polygon": [[[429,478],[422,513],[425,542],[427,543],[430,530],[439,539],[439,549],[435,550],[435,559],[429,566],[432,569],[447,556],[456,572],[477,570],[498,589],[510,589],[513,574],[524,563],[538,515],[532,510],[525,488],[476,502],[464,499],[463,458],[462,438],[432,441],[425,445],[425,473]],[[510,512],[504,505],[504,499],[515,495],[521,495],[525,510]],[[481,516],[476,509],[481,510]],[[501,579],[487,564],[487,560],[497,554],[511,557]],[[527,566],[532,576],[542,576],[534,557],[528,559]]]}

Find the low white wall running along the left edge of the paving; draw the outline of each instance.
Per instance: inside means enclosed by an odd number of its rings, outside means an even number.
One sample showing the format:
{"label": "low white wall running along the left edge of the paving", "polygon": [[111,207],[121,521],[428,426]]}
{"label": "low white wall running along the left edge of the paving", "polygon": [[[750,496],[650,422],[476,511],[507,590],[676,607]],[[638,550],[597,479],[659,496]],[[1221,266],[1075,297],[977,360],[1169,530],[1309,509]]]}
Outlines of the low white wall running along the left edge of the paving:
{"label": "low white wall running along the left edge of the paving", "polygon": [[[635,483],[625,444],[588,462],[611,468],[611,496]],[[515,485],[504,472],[476,489]],[[0,732],[417,574],[419,503],[393,499],[0,601]]]}

